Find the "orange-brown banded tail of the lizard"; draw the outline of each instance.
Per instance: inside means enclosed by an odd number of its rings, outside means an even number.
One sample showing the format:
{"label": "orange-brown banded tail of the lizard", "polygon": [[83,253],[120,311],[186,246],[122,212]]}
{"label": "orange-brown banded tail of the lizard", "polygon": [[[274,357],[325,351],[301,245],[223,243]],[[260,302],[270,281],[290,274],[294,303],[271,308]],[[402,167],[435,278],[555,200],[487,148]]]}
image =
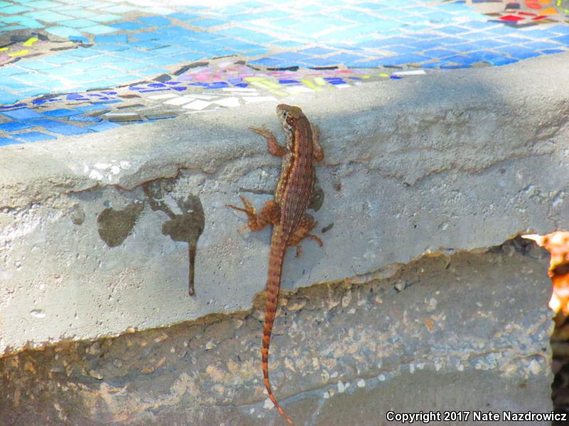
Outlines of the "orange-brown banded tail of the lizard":
{"label": "orange-brown banded tail of the lizard", "polygon": [[265,325],[262,331],[262,376],[265,381],[265,388],[270,400],[275,404],[275,408],[282,418],[287,420],[289,425],[294,426],[292,419],[285,413],[275,395],[272,394],[269,382],[269,345],[271,342],[272,324],[277,315],[277,302],[279,301],[280,278],[282,274],[282,262],[287,251],[287,236],[281,229],[274,229],[271,239],[271,250],[269,256],[269,273],[267,278],[267,305],[265,306]]}

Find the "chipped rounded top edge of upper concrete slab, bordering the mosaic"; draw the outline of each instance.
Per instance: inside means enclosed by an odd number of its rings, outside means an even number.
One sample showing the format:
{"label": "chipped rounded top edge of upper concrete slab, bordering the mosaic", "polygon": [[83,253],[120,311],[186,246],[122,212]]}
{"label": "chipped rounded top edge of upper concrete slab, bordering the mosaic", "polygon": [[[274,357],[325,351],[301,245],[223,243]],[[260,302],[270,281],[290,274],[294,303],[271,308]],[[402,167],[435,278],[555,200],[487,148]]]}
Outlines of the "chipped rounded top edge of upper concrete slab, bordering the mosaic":
{"label": "chipped rounded top edge of upper concrete slab, bordering the mosaic", "polygon": [[[505,67],[297,94],[280,102],[302,106],[324,129],[327,166],[361,163],[413,185],[452,168],[476,172],[508,158],[555,150],[568,133],[569,82],[562,77],[568,60],[569,53],[548,55]],[[542,84],[528,83],[535,80]],[[275,164],[248,131],[253,124],[275,129],[274,107],[251,104],[3,147],[0,208],[106,185],[132,189],[173,178],[181,169],[220,173],[236,159],[251,159],[240,165],[242,174]],[[448,141],[432,140],[440,131]],[[474,137],[479,140],[469,147]],[[421,151],[426,158],[420,158]],[[442,153],[438,160],[437,151]]]}

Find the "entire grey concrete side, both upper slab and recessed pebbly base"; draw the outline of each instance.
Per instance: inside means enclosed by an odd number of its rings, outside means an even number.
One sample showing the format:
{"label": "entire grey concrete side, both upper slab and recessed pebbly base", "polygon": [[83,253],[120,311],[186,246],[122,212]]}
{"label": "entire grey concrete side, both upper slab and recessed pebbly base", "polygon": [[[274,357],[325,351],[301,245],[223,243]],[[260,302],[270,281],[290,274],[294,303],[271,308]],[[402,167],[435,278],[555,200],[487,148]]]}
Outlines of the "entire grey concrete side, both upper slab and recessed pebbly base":
{"label": "entire grey concrete side, both upper slab and recessed pebbly base", "polygon": [[[284,100],[321,126],[326,151],[313,204],[324,247],[288,253],[283,278],[320,285],[282,308],[272,352],[299,424],[551,409],[547,260],[519,240],[488,248],[568,223],[568,58]],[[225,207],[270,198],[279,162],[247,127],[277,131],[272,110],[2,148],[6,424],[278,424],[259,378],[262,314],[249,311],[270,231],[238,231],[243,214]]]}

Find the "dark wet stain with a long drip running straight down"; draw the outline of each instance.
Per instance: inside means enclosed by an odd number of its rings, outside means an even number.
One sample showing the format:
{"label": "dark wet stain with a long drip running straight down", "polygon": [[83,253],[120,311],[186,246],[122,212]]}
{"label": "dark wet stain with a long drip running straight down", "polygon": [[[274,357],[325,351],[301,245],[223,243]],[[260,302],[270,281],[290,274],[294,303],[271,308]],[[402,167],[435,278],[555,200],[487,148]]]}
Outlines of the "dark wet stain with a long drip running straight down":
{"label": "dark wet stain with a long drip running straight down", "polygon": [[[193,278],[196,245],[206,226],[206,217],[203,214],[203,206],[199,197],[191,194],[176,194],[174,185],[175,182],[172,180],[153,180],[144,185],[144,193],[148,197],[152,210],[164,212],[170,218],[162,224],[162,234],[170,236],[173,241],[188,243],[188,294],[193,296],[196,294]],[[169,203],[175,203],[175,206]],[[176,214],[173,208],[179,210],[180,213]]]}

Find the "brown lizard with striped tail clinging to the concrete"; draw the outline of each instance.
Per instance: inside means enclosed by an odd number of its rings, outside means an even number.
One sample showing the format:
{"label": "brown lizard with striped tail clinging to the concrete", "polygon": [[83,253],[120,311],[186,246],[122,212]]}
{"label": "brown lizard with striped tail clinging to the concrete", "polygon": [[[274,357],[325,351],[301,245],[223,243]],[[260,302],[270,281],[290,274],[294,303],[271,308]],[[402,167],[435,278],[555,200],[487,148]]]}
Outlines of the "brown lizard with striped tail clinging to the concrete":
{"label": "brown lizard with striped tail clinging to the concrete", "polygon": [[248,216],[248,226],[252,231],[262,229],[266,224],[273,224],[271,246],[269,255],[269,271],[267,277],[267,304],[265,305],[265,326],[262,334],[262,374],[265,388],[270,400],[275,404],[278,412],[294,425],[292,419],[277,403],[275,395],[271,391],[269,382],[269,344],[271,340],[272,324],[275,322],[277,302],[282,275],[282,262],[289,246],[297,248],[297,257],[302,253],[300,241],[311,238],[322,246],[322,241],[317,236],[311,235],[310,231],[316,226],[314,217],[306,214],[306,209],[312,197],[314,188],[314,163],[313,160],[324,159],[324,151],[319,143],[320,130],[317,126],[309,123],[299,107],[289,107],[280,104],[277,106],[282,129],[285,130],[287,143],[280,146],[277,138],[265,126],[250,127],[252,131],[259,133],[267,139],[269,152],[272,155],[282,157],[282,169],[275,187],[275,198],[270,200],[257,212],[252,204],[240,196],[245,208],[228,204],[228,207],[245,212]]}

